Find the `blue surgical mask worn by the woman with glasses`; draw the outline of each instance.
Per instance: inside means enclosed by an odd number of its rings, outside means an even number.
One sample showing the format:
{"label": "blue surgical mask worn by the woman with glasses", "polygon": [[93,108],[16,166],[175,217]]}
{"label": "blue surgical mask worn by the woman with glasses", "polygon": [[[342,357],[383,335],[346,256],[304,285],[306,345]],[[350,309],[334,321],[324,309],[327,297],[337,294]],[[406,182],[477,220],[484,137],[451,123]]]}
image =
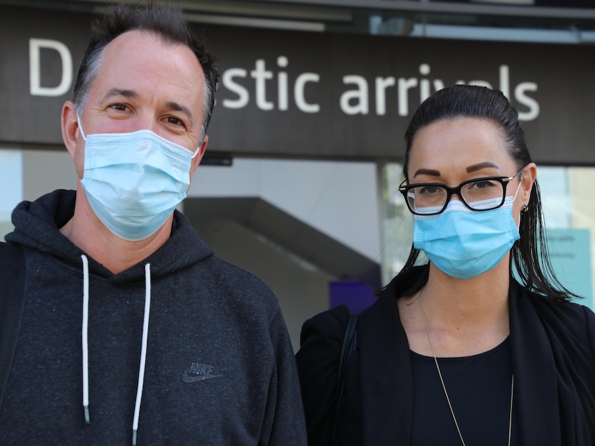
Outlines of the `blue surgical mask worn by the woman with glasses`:
{"label": "blue surgical mask worn by the woman with glasses", "polygon": [[520,239],[513,202],[514,197],[507,196],[496,209],[473,211],[451,200],[441,214],[415,215],[413,246],[449,276],[478,276],[498,265]]}

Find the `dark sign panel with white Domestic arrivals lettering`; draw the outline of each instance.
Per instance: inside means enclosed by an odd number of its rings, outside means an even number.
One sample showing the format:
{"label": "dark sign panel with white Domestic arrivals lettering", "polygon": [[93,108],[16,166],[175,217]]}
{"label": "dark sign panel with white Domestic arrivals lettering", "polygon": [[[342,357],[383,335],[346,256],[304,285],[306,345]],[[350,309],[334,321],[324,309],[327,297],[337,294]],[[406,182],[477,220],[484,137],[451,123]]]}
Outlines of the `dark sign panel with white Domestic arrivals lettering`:
{"label": "dark sign panel with white Domestic arrivals lettering", "polygon": [[[0,8],[0,141],[60,144],[92,16]],[[595,47],[196,26],[222,68],[211,153],[400,159],[409,117],[453,83],[503,90],[534,159],[595,163]]]}

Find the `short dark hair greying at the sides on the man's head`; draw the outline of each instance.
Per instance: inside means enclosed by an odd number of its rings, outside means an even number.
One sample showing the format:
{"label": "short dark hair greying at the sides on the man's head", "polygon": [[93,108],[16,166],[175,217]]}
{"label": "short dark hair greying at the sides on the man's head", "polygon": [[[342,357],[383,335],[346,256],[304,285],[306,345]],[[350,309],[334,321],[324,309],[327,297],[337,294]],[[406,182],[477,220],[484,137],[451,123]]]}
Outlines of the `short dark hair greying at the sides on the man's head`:
{"label": "short dark hair greying at the sides on the man's head", "polygon": [[74,103],[80,115],[85,107],[91,84],[101,68],[101,59],[108,43],[128,31],[147,31],[159,36],[170,45],[186,45],[195,54],[204,72],[204,119],[200,142],[204,141],[213,108],[215,90],[220,81],[219,68],[213,56],[206,50],[204,40],[199,39],[184,21],[180,8],[166,3],[148,0],[146,6],[116,5],[93,23],[93,37],[79,65],[75,82]]}

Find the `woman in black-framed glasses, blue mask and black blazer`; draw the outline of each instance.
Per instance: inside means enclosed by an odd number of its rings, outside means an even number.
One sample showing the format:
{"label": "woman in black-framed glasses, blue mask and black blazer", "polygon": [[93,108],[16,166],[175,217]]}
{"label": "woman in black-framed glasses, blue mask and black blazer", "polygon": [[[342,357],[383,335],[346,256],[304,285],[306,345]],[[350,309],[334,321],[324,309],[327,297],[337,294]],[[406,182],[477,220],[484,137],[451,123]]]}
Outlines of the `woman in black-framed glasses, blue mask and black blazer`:
{"label": "woman in black-framed glasses, blue mask and black blazer", "polygon": [[[333,443],[595,445],[595,314],[554,278],[516,110],[445,88],[405,141],[413,247],[358,318]],[[310,445],[331,444],[348,318],[337,307],[302,330]]]}

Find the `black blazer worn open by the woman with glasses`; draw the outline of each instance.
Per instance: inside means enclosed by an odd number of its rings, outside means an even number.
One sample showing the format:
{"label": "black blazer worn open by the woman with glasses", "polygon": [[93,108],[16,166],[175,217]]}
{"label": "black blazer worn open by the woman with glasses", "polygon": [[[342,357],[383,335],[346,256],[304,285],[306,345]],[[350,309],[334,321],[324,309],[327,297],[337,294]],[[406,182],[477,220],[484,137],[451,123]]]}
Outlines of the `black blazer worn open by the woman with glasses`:
{"label": "black blazer worn open by the woman with glasses", "polygon": [[[411,360],[397,298],[427,281],[427,267],[397,276],[358,318],[347,367],[342,445],[409,445]],[[335,384],[349,312],[304,323],[296,355],[309,445],[329,445]],[[511,280],[511,361],[520,444],[595,445],[595,314],[527,292]]]}

